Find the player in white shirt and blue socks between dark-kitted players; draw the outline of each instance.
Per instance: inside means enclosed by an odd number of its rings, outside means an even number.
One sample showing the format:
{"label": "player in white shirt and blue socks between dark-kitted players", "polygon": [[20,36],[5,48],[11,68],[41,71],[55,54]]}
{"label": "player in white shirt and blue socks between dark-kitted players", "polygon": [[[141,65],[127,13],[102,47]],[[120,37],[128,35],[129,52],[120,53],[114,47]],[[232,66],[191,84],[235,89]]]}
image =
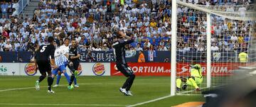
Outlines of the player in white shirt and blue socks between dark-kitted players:
{"label": "player in white shirt and blue socks between dark-kitted players", "polygon": [[70,82],[70,77],[66,72],[66,65],[68,64],[69,43],[70,43],[70,40],[68,38],[65,38],[64,45],[61,45],[60,47],[56,48],[54,53],[54,59],[55,59],[55,64],[58,65],[58,69],[53,69],[52,71],[53,78],[58,74],[58,71],[62,72],[65,75],[68,83]]}

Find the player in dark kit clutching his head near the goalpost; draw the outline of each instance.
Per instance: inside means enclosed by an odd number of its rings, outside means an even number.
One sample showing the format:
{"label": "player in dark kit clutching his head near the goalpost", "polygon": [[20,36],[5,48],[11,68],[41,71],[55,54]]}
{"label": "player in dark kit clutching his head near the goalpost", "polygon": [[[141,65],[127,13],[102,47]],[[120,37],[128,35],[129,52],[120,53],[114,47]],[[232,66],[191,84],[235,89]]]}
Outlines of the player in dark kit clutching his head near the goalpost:
{"label": "player in dark kit clutching his head near the goalpost", "polygon": [[117,37],[117,41],[113,43],[117,69],[119,70],[119,72],[122,72],[122,74],[124,74],[125,77],[128,77],[127,80],[124,82],[123,86],[119,89],[119,91],[126,96],[132,96],[132,93],[129,90],[132,87],[135,75],[125,60],[124,45],[130,44],[134,42],[134,40],[129,36],[125,35],[120,30],[115,32],[114,35],[116,35]]}

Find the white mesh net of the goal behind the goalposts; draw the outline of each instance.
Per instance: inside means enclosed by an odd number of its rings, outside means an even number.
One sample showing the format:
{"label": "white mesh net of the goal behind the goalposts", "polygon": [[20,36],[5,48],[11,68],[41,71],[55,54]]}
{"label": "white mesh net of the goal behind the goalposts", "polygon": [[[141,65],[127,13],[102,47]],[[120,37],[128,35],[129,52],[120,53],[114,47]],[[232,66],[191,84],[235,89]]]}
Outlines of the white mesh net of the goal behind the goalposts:
{"label": "white mesh net of the goal behind the goalposts", "polygon": [[[240,63],[239,54],[251,51],[255,40],[255,5],[247,6],[198,6],[178,2],[177,13],[177,79],[191,77],[191,60],[202,66],[203,81],[195,81],[200,89],[208,90],[215,86],[229,84],[234,79],[235,70],[252,64],[255,60]],[[226,12],[228,9],[233,12]],[[241,8],[245,8],[241,15]],[[228,10],[229,11],[229,10]],[[210,15],[211,71],[206,71],[206,27],[207,13]],[[239,20],[241,19],[241,20]],[[211,72],[211,87],[206,88],[206,72]],[[196,79],[194,79],[196,80]],[[176,81],[176,84],[178,81]],[[177,94],[201,94],[195,91],[192,81],[182,82]],[[188,84],[183,89],[184,84]],[[191,85],[192,84],[192,85]]]}

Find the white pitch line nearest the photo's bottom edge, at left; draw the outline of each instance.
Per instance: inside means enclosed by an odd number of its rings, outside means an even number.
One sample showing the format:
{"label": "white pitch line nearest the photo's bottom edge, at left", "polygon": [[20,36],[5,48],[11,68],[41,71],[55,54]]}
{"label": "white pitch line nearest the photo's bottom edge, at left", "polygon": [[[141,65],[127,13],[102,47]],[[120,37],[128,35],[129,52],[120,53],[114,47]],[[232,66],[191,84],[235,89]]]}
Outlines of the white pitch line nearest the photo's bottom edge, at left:
{"label": "white pitch line nearest the photo's bottom edge, at left", "polygon": [[0,103],[6,106],[127,106],[119,104]]}

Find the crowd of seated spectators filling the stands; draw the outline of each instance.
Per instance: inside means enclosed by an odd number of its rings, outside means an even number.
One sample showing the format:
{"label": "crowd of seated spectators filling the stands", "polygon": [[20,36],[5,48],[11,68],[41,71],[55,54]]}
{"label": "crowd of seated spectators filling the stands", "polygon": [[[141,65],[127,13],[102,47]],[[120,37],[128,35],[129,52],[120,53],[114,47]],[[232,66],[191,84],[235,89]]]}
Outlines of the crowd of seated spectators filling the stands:
{"label": "crowd of seated spectators filling the stands", "polygon": [[[187,2],[218,5],[199,1]],[[32,18],[8,17],[0,18],[0,52],[33,51],[48,37],[57,39],[60,34],[75,38],[82,51],[112,50],[114,28],[136,38],[127,50],[171,50],[171,0],[41,0]],[[211,50],[247,48],[252,22],[218,16],[211,16],[211,21]],[[177,27],[178,51],[206,51],[206,13],[179,6]]]}

